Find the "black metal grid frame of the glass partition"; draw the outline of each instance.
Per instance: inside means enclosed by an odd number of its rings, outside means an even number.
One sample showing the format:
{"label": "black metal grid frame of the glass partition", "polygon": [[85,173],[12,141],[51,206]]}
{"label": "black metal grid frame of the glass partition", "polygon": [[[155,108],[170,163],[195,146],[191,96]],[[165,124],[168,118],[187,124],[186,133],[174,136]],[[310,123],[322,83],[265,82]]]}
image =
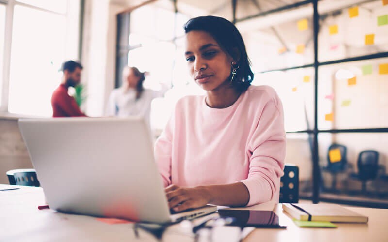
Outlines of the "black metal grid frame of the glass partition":
{"label": "black metal grid frame of the glass partition", "polygon": [[[303,130],[303,131],[293,131],[293,132],[287,132],[287,133],[306,133],[309,135],[313,135],[312,140],[312,162],[313,162],[313,170],[312,170],[312,177],[313,177],[313,189],[312,189],[312,197],[304,197],[305,199],[311,199],[313,203],[318,203],[320,200],[327,201],[327,202],[336,202],[336,203],[343,203],[343,204],[350,204],[350,205],[359,205],[359,206],[367,206],[367,207],[387,207],[386,205],[381,205],[379,203],[374,202],[360,202],[360,201],[349,201],[349,200],[341,200],[341,199],[329,199],[329,198],[320,198],[320,187],[321,187],[321,172],[319,167],[319,144],[318,144],[318,135],[320,133],[388,133],[388,127],[386,128],[364,128],[364,129],[330,129],[330,130],[319,130],[318,129],[318,68],[320,66],[324,65],[331,65],[331,64],[338,64],[338,63],[344,63],[344,62],[351,62],[351,61],[362,61],[362,60],[372,60],[372,59],[378,59],[378,58],[385,58],[388,57],[388,52],[381,52],[376,54],[370,54],[370,55],[364,55],[364,56],[358,56],[358,57],[352,57],[352,58],[345,58],[341,60],[334,60],[334,61],[324,61],[319,62],[318,61],[318,33],[319,33],[319,20],[320,15],[318,13],[318,1],[319,0],[305,0],[301,2],[297,2],[294,4],[282,6],[280,8],[272,9],[269,11],[261,12],[256,15],[251,15],[247,17],[243,17],[240,19],[236,19],[236,7],[238,0],[231,0],[232,2],[232,22],[238,23],[245,20],[249,20],[256,17],[261,17],[265,15],[270,15],[273,13],[278,13],[281,11],[291,10],[298,8],[300,6],[304,6],[307,4],[312,4],[313,6],[313,41],[314,41],[314,62],[310,64],[305,64],[301,66],[293,66],[288,68],[281,68],[281,69],[275,69],[275,70],[267,70],[262,71],[260,73],[267,73],[272,71],[287,71],[292,69],[298,69],[298,68],[308,68],[308,67],[314,67],[314,127],[312,130]],[[367,2],[367,1],[365,1]],[[177,0],[173,0],[175,12],[177,13],[178,10],[176,8]],[[123,15],[128,14],[128,19],[123,17]],[[121,16],[121,17],[120,17]],[[322,16],[324,17],[324,16]],[[123,26],[123,22],[128,24],[128,26]],[[129,46],[128,43],[124,43],[125,41],[128,41],[129,36],[129,13],[122,13],[117,15],[117,55],[116,55],[116,87],[121,81],[121,73],[119,70],[122,68],[122,61],[125,61],[127,63],[128,61],[128,51]],[[126,57],[123,56],[123,52],[126,53]],[[122,59],[120,59],[122,58]],[[124,60],[125,59],[125,60]],[[121,63],[121,64],[120,64]]]}

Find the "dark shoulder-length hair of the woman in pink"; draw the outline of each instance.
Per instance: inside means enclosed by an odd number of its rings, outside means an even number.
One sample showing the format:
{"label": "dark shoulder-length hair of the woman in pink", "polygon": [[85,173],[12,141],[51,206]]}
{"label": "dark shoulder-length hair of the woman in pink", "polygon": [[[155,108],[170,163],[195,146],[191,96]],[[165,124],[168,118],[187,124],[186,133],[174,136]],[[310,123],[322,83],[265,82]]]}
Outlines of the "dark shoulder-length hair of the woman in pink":
{"label": "dark shoulder-length hair of the woman in pink", "polygon": [[233,78],[232,86],[237,91],[246,91],[248,89],[253,80],[253,72],[244,41],[234,24],[222,17],[201,16],[189,19],[183,28],[185,33],[193,30],[209,33],[220,47],[236,60],[240,66]]}

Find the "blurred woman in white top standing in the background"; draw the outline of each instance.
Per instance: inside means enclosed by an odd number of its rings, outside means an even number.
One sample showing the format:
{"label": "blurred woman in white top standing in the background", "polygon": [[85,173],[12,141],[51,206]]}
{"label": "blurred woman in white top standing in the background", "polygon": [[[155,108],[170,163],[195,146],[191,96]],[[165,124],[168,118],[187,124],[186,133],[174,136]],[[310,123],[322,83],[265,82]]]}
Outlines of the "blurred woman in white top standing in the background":
{"label": "blurred woman in white top standing in the background", "polygon": [[129,117],[141,116],[150,125],[151,102],[167,91],[163,86],[161,91],[145,89],[143,82],[146,73],[136,67],[126,66],[123,69],[123,84],[114,89],[108,99],[106,116]]}

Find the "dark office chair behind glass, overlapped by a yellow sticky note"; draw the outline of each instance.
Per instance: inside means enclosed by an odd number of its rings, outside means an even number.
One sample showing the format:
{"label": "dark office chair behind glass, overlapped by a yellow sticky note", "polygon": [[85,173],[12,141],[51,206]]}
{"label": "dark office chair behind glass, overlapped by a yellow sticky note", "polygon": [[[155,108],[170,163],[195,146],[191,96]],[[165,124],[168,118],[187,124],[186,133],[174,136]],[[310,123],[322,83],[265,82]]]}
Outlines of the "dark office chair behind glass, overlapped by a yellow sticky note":
{"label": "dark office chair behind glass, overlapped by a yellow sticky note", "polygon": [[[339,151],[339,156],[336,157],[336,155],[330,155],[331,152],[335,153],[336,151]],[[327,151],[327,166],[323,167],[323,170],[332,175],[331,190],[333,192],[337,190],[337,175],[351,170],[351,165],[348,164],[346,155],[346,146],[340,144],[330,145]]]}

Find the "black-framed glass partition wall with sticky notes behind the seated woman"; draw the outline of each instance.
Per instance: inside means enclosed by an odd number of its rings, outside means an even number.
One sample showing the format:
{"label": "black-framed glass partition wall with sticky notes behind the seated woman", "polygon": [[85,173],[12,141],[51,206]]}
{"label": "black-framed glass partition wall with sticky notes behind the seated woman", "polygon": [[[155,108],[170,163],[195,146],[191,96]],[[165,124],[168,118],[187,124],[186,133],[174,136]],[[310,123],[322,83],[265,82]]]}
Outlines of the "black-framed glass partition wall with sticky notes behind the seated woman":
{"label": "black-framed glass partition wall with sticky notes behind the seated woman", "polygon": [[[272,86],[285,112],[286,163],[301,198],[388,208],[388,5],[381,0],[156,0],[117,15],[117,76],[149,71],[171,87],[153,101],[161,130],[179,97],[203,93],[187,74],[183,24],[218,15],[245,41],[253,85]],[[161,61],[162,60],[162,61]]]}

